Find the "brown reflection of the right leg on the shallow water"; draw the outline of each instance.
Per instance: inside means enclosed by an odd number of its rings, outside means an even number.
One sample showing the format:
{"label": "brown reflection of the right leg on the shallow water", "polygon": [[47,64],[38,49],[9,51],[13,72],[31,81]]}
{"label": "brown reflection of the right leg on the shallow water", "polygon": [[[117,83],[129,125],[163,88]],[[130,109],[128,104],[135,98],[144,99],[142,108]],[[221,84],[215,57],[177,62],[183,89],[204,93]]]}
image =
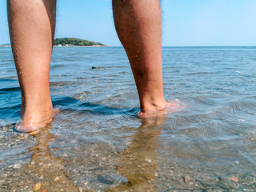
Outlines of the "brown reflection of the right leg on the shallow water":
{"label": "brown reflection of the right leg on the shallow water", "polygon": [[128,182],[110,191],[156,191],[152,182],[158,170],[155,150],[158,148],[160,126],[166,117],[143,119],[142,125],[131,136],[130,146],[120,155],[121,166],[117,171]]}

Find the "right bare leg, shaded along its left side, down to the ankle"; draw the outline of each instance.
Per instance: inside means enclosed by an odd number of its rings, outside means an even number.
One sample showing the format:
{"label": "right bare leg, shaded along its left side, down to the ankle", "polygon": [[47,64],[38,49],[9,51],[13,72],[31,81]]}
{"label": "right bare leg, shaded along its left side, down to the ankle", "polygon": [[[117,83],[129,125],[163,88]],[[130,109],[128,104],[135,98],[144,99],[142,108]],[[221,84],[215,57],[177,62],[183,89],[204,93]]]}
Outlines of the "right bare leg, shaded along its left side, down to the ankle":
{"label": "right bare leg, shaded along its left side, down to the ankle", "polygon": [[162,89],[162,18],[159,0],[113,0],[114,24],[126,50],[141,118],[165,113]]}

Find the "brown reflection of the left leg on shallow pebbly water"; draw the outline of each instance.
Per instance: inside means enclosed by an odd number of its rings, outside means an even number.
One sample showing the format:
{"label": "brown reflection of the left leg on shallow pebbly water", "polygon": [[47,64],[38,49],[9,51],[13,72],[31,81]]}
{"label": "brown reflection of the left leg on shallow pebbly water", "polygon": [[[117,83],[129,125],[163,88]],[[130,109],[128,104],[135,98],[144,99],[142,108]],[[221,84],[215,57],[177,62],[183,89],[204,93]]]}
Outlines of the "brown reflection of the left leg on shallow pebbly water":
{"label": "brown reflection of the left leg on shallow pebbly water", "polygon": [[[26,166],[26,172],[35,177],[39,177],[34,183],[34,191],[79,191],[70,178],[63,170],[64,162],[62,158],[54,157],[50,149],[50,142],[53,142],[56,136],[50,133],[51,126],[38,131],[34,137],[38,144],[29,148],[32,151],[30,163]],[[58,149],[54,149],[58,150]]]}

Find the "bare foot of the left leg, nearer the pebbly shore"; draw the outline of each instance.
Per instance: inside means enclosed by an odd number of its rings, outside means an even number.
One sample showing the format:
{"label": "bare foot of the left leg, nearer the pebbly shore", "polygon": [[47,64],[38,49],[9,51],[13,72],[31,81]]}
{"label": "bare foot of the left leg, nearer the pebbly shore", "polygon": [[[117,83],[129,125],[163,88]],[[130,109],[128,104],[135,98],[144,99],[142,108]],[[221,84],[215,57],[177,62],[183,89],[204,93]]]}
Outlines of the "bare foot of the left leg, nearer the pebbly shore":
{"label": "bare foot of the left leg, nearer the pebbly shore", "polygon": [[34,132],[36,130],[42,129],[54,121],[54,115],[58,114],[58,112],[59,112],[58,109],[51,110],[50,116],[48,118],[43,118],[42,120],[39,120],[39,121],[29,122],[27,119],[26,121],[21,120],[15,125],[14,129],[22,133],[30,133],[30,132]]}

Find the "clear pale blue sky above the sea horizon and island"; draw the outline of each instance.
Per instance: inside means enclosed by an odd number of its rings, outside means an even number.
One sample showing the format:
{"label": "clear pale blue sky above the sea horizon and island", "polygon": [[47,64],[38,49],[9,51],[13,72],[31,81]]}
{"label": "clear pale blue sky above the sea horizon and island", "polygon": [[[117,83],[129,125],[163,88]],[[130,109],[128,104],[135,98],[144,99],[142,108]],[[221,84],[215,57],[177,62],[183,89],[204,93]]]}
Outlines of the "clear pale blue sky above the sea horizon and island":
{"label": "clear pale blue sky above the sea horizon and island", "polygon": [[[162,0],[163,46],[256,46],[255,0]],[[0,0],[0,44],[10,42]],[[59,0],[56,38],[121,46],[111,0]]]}

